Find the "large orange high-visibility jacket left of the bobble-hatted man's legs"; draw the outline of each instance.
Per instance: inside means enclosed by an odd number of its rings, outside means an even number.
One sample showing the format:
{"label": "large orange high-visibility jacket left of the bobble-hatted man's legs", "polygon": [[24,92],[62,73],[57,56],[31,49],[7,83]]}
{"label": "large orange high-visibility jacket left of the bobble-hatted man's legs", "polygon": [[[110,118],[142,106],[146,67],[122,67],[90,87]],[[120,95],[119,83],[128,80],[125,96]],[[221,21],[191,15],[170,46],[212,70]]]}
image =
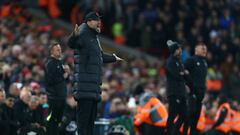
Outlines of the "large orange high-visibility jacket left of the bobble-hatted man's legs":
{"label": "large orange high-visibility jacket left of the bobble-hatted man's legs", "polygon": [[143,106],[139,107],[137,114],[134,116],[134,125],[139,126],[146,123],[153,126],[166,126],[167,109],[156,97],[151,97]]}

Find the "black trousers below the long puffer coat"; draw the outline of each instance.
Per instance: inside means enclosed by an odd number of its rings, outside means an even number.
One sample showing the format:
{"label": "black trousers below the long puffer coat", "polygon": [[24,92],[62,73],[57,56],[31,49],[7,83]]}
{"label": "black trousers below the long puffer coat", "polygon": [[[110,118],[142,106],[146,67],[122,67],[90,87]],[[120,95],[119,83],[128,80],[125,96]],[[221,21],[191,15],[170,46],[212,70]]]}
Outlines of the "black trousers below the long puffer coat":
{"label": "black trousers below the long puffer coat", "polygon": [[78,135],[93,135],[98,101],[80,99],[77,102]]}

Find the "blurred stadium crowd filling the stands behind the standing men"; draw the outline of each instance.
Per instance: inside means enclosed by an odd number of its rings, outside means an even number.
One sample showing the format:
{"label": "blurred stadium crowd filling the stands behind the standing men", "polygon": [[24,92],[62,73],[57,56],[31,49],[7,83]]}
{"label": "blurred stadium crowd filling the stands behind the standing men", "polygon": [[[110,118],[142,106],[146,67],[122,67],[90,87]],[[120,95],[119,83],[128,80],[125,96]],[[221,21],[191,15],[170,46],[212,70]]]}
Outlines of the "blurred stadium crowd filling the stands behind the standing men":
{"label": "blurred stadium crowd filling the stands behind the standing men", "polygon": [[[100,41],[104,50],[127,61],[104,66],[96,135],[107,134],[113,124],[136,134],[133,117],[138,94],[146,90],[167,107],[164,66],[168,39],[183,45],[183,62],[193,55],[198,42],[208,47],[206,125],[214,121],[220,95],[240,110],[239,0],[1,0],[0,104],[4,105],[0,110],[8,111],[9,116],[5,121],[1,116],[0,123],[7,121],[13,135],[28,124],[45,130],[48,104],[43,62],[47,48],[58,41],[63,60],[72,69],[73,51],[67,47],[67,38],[90,11],[103,16]],[[67,80],[63,135],[76,130],[71,80]],[[19,100],[26,103],[26,114],[16,113]],[[23,122],[19,122],[21,117]]]}

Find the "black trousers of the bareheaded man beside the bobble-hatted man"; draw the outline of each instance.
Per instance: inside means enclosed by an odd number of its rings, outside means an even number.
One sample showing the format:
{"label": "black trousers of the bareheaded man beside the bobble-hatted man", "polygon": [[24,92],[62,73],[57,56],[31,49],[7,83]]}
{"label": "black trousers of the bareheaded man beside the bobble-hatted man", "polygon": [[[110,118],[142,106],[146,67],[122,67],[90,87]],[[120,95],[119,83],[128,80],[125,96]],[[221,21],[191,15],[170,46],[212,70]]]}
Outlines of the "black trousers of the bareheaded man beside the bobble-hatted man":
{"label": "black trousers of the bareheaded man beside the bobble-hatted man", "polygon": [[197,124],[202,111],[202,100],[204,93],[196,94],[196,97],[190,96],[189,98],[189,127],[190,135],[197,135]]}

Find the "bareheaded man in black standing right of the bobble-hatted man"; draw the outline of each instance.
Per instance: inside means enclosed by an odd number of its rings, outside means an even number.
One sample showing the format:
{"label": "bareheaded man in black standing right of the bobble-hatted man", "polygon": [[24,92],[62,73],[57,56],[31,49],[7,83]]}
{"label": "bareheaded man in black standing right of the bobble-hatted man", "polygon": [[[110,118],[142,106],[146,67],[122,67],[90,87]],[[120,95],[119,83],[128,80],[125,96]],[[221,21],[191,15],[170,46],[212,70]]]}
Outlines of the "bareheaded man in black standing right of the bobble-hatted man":
{"label": "bareheaded man in black standing right of the bobble-hatted man", "polygon": [[204,43],[195,46],[195,55],[188,58],[185,63],[185,69],[189,72],[187,79],[190,89],[189,96],[189,125],[190,134],[197,134],[197,123],[202,109],[202,100],[206,91],[207,76],[207,47]]}

